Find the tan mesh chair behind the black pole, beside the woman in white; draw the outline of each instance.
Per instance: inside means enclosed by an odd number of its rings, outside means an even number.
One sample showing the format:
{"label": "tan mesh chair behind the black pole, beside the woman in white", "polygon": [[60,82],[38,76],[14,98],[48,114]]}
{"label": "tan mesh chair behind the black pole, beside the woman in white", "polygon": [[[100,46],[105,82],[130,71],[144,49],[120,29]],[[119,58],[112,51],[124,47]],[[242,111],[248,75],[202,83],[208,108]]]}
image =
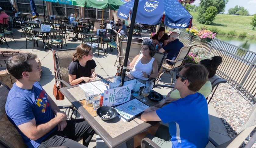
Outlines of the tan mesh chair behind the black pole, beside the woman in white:
{"label": "tan mesh chair behind the black pole, beside the woman in white", "polygon": [[[131,42],[130,52],[129,52],[129,59],[132,61],[135,56],[140,54],[140,50],[142,47],[142,43],[137,42]],[[126,52],[127,42],[121,41],[120,42],[120,49],[116,58],[116,62],[114,63],[114,66],[123,66],[125,52]],[[116,64],[118,62],[118,64]]]}

